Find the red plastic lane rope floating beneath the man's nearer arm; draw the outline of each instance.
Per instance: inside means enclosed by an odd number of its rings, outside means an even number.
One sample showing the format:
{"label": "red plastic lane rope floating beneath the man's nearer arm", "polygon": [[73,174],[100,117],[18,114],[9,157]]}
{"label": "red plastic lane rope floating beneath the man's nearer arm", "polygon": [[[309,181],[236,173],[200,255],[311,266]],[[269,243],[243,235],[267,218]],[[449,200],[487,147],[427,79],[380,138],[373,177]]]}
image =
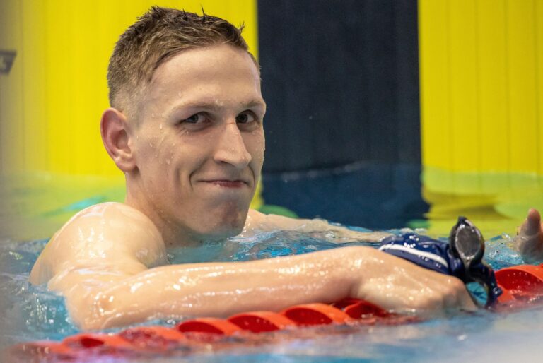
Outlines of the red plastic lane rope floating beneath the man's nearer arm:
{"label": "red plastic lane rope floating beneath the man's nearer arm", "polygon": [[[521,265],[496,271],[496,280],[503,290],[498,309],[522,308],[543,298],[543,264]],[[221,337],[279,331],[296,326],[326,324],[385,325],[417,321],[413,316],[393,314],[375,304],[360,299],[343,299],[334,304],[300,304],[274,311],[250,311],[228,319],[199,318],[182,321],[173,328],[141,326],[117,334],[81,333],[62,342],[39,341],[11,347],[12,357],[24,359],[78,359],[103,355],[145,355],[165,352],[194,352],[205,350],[207,343]],[[257,336],[257,335],[255,335]]]}

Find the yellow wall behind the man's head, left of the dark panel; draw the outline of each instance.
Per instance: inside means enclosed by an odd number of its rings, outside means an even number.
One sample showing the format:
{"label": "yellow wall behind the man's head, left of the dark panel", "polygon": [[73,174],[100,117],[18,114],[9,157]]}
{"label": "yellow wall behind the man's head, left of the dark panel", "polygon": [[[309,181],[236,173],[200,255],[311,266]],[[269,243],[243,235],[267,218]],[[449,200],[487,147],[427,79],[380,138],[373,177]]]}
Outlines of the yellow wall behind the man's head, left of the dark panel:
{"label": "yellow wall behind the man's head, left of the dark panel", "polygon": [[107,61],[119,35],[151,5],[221,16],[257,52],[256,0],[2,0],[0,172],[117,175],[100,141]]}

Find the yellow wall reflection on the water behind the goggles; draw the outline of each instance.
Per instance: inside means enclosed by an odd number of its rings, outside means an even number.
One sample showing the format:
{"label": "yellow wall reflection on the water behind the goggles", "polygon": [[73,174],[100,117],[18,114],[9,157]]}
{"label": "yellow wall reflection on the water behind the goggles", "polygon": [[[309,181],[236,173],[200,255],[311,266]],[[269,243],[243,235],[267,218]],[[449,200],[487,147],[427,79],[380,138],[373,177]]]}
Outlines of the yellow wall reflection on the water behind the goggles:
{"label": "yellow wall reflection on the water behind the goggles", "polygon": [[513,234],[529,208],[543,210],[543,176],[535,173],[453,173],[426,167],[421,178],[431,234],[446,234],[458,215],[472,220],[487,238]]}

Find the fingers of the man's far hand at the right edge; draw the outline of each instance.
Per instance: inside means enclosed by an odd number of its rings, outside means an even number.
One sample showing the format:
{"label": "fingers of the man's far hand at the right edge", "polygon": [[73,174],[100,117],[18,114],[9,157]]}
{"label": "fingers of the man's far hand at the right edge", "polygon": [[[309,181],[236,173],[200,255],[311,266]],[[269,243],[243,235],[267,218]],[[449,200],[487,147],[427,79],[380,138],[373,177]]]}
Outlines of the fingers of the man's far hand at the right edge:
{"label": "fingers of the man's far hand at the right edge", "polygon": [[526,262],[543,260],[543,224],[537,209],[530,209],[524,223],[518,228],[515,245]]}

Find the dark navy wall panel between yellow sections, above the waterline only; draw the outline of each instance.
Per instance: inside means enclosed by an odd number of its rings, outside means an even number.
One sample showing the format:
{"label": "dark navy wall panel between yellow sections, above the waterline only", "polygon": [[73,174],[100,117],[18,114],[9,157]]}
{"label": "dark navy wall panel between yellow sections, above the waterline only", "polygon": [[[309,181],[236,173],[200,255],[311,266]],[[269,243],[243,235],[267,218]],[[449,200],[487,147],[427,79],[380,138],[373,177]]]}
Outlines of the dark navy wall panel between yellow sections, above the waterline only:
{"label": "dark navy wall panel between yellow sections, above the waterline only", "polygon": [[420,164],[416,0],[259,0],[264,170]]}

